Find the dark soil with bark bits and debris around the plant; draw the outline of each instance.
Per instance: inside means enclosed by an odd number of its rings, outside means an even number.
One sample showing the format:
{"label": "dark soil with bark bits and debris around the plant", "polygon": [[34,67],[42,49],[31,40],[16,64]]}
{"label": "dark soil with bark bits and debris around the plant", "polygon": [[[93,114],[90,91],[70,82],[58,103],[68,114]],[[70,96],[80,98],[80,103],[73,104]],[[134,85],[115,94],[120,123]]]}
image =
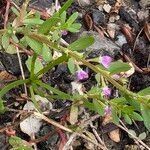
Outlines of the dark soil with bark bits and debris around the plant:
{"label": "dark soil with bark bits and debris around the plant", "polygon": [[[84,0],[83,0],[84,1]],[[47,8],[52,6],[52,0],[42,0],[41,1],[35,1],[31,0],[30,7],[38,9],[38,10],[46,10]],[[60,0],[60,5],[62,6],[64,4],[64,0]],[[111,7],[114,7],[117,0],[106,0],[106,4],[109,4]],[[135,71],[135,73],[130,76],[129,78],[129,85],[128,88],[131,91],[138,92],[148,86],[150,86],[150,41],[148,40],[147,36],[145,35],[144,31],[141,32],[140,35],[139,32],[144,27],[145,23],[150,22],[149,15],[147,15],[147,11],[150,10],[150,3],[144,0],[123,0],[124,4],[119,9],[119,12],[117,13],[117,16],[119,16],[119,19],[116,19],[114,22],[110,22],[110,17],[112,17],[115,13],[107,13],[104,11],[104,9],[100,9],[100,6],[103,6],[104,3],[102,1],[97,0],[97,2],[93,2],[91,0],[90,3],[88,3],[88,0],[85,3],[81,2],[78,3],[78,1],[75,1],[73,5],[68,9],[68,15],[70,15],[72,12],[78,11],[80,13],[80,17],[78,19],[78,22],[82,24],[82,29],[79,33],[68,33],[67,36],[64,36],[63,39],[71,43],[75,41],[78,37],[81,36],[83,32],[90,32],[89,30],[92,30],[98,33],[97,28],[94,27],[97,26],[99,29],[102,29],[101,32],[107,31],[107,25],[108,24],[114,24],[115,25],[115,36],[114,38],[110,36],[106,36],[107,40],[110,40],[112,43],[115,43],[118,35],[124,35],[127,39],[126,45],[118,46],[116,45],[116,49],[114,48],[115,53],[112,53],[109,49],[105,49],[104,47],[101,50],[94,50],[93,52],[89,53],[87,56],[88,58],[93,58],[98,56],[99,54],[107,53],[110,56],[112,56],[114,59],[122,59],[124,61],[127,61],[125,59],[125,55],[131,58],[131,60],[134,62],[134,64],[142,70],[140,72],[138,69]],[[16,4],[18,6],[21,5],[22,2],[16,1]],[[102,4],[101,4],[102,3]],[[99,8],[99,9],[98,9]],[[4,27],[4,17],[5,17],[5,9],[6,9],[6,2],[2,0],[0,2],[0,28],[2,29]],[[31,8],[29,8],[31,9]],[[141,11],[143,13],[143,17],[138,16],[138,12]],[[10,14],[12,12],[10,11]],[[148,12],[150,13],[150,12]],[[89,15],[92,20],[89,22],[85,19],[85,15]],[[147,15],[147,16],[146,16]],[[145,16],[145,17],[144,17]],[[116,15],[114,15],[114,18]],[[92,26],[90,27],[90,24]],[[122,28],[122,25],[127,24],[129,27],[129,30],[131,33],[128,33],[125,31],[125,29]],[[119,29],[118,29],[119,26]],[[125,27],[124,27],[125,28]],[[128,29],[128,28],[126,28]],[[149,31],[150,32],[150,31]],[[100,34],[100,33],[98,33]],[[138,38],[137,38],[138,36]],[[137,38],[137,40],[136,40]],[[135,43],[136,40],[136,43]],[[118,50],[119,47],[119,50]],[[103,51],[103,52],[102,52]],[[121,51],[121,52],[120,52]],[[28,76],[29,72],[27,70],[27,67],[25,65],[25,61],[27,60],[26,54],[21,54],[23,68],[25,70],[25,75]],[[148,71],[144,70],[147,69]],[[95,80],[95,73],[93,73],[90,69],[85,68],[89,72],[89,79],[82,81],[81,83],[84,86],[84,90],[88,91],[90,90],[94,85],[96,85]],[[8,54],[5,53],[3,49],[1,49],[0,52],[0,71],[7,71],[9,74],[14,76],[14,79],[21,78],[21,71],[19,67],[18,57],[16,54]],[[1,74],[0,74],[1,75]],[[73,82],[76,79],[75,75],[72,75],[67,68],[67,65],[60,64],[54,69],[48,71],[46,74],[42,76],[42,81],[50,84],[53,87],[57,87],[63,92],[71,93],[72,86],[71,82]],[[7,80],[7,79],[5,79]],[[9,81],[11,82],[11,81]],[[0,82],[0,88],[4,87],[7,82]],[[114,89],[115,91],[115,89]],[[48,91],[46,91],[48,92]],[[5,104],[8,105],[11,109],[22,109],[23,105],[25,104],[25,100],[22,101],[14,101],[14,99],[17,99],[20,97],[20,95],[23,93],[23,87],[12,89],[10,92],[8,92],[4,99]],[[69,116],[70,108],[71,108],[71,102],[68,100],[56,100],[52,102],[53,109],[60,110],[60,111],[51,111],[48,115],[49,118],[54,119],[56,121],[61,122],[62,124],[65,124],[67,122],[67,117]],[[86,118],[86,115],[89,115]],[[6,132],[3,130],[6,126],[10,125],[13,120],[19,121],[19,118],[17,118],[17,112],[6,112],[4,114],[0,115],[0,149],[1,150],[8,150],[11,149],[10,145],[8,143],[9,136],[6,134]],[[90,117],[96,115],[93,111],[87,109],[87,108],[81,108],[80,114],[79,114],[79,122],[84,119],[89,119]],[[13,123],[14,125],[15,123]],[[69,123],[68,123],[69,124]],[[136,147],[135,141],[128,136],[128,134],[120,129],[120,141],[114,142],[110,139],[108,136],[109,133],[118,127],[112,123],[109,123],[107,125],[102,126],[102,118],[95,119],[93,121],[93,125],[95,126],[97,133],[99,136],[105,141],[105,145],[110,150],[129,150],[132,149],[132,146],[135,146],[132,150],[138,150],[142,149],[139,145]],[[142,122],[136,122],[132,125],[126,126],[129,129],[134,129],[134,131],[138,134],[142,132],[147,132],[146,128],[144,127]],[[13,127],[16,130],[16,135],[20,138],[30,141],[30,137],[23,133],[19,125],[16,125]],[[85,130],[92,132],[93,128],[91,126],[87,126]],[[45,137],[42,139],[41,137]],[[39,150],[61,150],[61,144],[62,141],[65,142],[67,140],[67,134],[61,130],[58,130],[56,127],[51,126],[47,123],[44,123],[41,127],[40,131],[36,134],[36,138],[40,139],[41,141],[37,142],[37,149]],[[147,137],[144,139],[144,143],[150,146],[150,135],[147,133]],[[98,148],[94,145],[90,145],[89,142],[86,142],[82,138],[76,138],[75,142],[72,144],[74,150],[79,149],[93,149],[97,150]],[[90,147],[91,146],[91,147]]]}

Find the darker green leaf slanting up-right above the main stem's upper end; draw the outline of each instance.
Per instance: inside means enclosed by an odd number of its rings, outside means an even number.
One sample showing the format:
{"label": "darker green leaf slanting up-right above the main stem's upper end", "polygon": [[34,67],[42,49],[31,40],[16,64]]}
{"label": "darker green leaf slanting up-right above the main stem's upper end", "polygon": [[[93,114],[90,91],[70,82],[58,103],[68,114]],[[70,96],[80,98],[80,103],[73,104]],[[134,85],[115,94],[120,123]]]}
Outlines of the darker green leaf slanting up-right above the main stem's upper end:
{"label": "darker green leaf slanting up-right above the main stem's upper end", "polygon": [[44,23],[40,26],[38,32],[42,34],[48,34],[52,27],[56,26],[56,24],[60,21],[60,18],[58,17],[51,17],[50,19],[47,19],[44,21]]}

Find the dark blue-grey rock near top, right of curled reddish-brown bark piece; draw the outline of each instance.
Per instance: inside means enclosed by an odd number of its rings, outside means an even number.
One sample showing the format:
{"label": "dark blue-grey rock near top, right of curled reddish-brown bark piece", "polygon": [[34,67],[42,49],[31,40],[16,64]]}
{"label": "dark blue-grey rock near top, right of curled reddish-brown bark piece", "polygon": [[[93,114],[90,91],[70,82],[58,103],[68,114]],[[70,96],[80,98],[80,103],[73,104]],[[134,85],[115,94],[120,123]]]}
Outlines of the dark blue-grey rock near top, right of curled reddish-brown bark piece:
{"label": "dark blue-grey rock near top, right of curled reddish-brown bark piece", "polygon": [[105,23],[105,15],[101,11],[94,9],[92,15],[93,15],[93,21],[96,24],[102,25]]}

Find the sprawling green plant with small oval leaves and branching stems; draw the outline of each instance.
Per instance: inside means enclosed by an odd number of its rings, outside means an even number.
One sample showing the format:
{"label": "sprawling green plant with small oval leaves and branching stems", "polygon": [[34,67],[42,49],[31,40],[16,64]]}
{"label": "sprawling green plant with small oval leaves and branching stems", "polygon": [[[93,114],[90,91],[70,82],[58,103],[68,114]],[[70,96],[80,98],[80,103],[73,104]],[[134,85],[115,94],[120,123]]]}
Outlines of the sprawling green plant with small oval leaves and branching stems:
{"label": "sprawling green plant with small oval leaves and branching stems", "polygon": [[[72,0],[68,0],[58,12],[46,21],[42,20],[38,13],[27,13],[27,0],[20,11],[13,8],[13,12],[17,17],[6,29],[0,30],[0,34],[2,35],[1,45],[5,51],[9,53],[16,53],[16,46],[20,49],[30,47],[33,51],[33,56],[29,57],[26,62],[30,71],[29,78],[10,83],[0,91],[0,112],[3,113],[7,111],[7,107],[4,107],[2,100],[4,94],[16,86],[27,84],[30,89],[30,96],[37,109],[38,106],[34,101],[34,93],[46,96],[46,94],[38,88],[40,86],[51,91],[53,94],[51,94],[50,97],[53,99],[59,98],[71,101],[82,101],[85,107],[96,111],[101,116],[104,115],[106,111],[105,108],[110,107],[113,121],[116,124],[119,123],[120,117],[124,117],[125,121],[129,124],[131,124],[133,120],[144,121],[145,126],[150,131],[150,88],[146,88],[138,93],[133,93],[129,91],[120,80],[116,81],[112,78],[112,75],[116,73],[118,74],[129,70],[131,68],[129,64],[117,61],[112,63],[109,68],[105,68],[99,64],[99,60],[97,61],[96,58],[86,60],[81,50],[94,43],[94,38],[91,36],[81,37],[70,45],[61,45],[62,31],[78,32],[81,27],[79,23],[75,22],[78,13],[73,13],[66,19],[66,10],[71,4]],[[21,38],[19,35],[21,35]],[[60,53],[61,56],[53,58],[52,53],[54,52]],[[42,56],[46,65],[43,66],[38,56]],[[77,62],[87,66],[96,73],[95,78],[97,85],[90,91],[83,93],[83,95],[78,93],[64,93],[40,80],[42,74],[61,63],[67,63],[70,73],[74,74],[81,69],[81,66]],[[93,65],[92,62],[97,62],[97,65]],[[120,97],[108,100],[108,97],[102,92],[103,88],[107,86],[104,79],[119,90]],[[92,99],[92,102],[89,102],[89,98]]]}

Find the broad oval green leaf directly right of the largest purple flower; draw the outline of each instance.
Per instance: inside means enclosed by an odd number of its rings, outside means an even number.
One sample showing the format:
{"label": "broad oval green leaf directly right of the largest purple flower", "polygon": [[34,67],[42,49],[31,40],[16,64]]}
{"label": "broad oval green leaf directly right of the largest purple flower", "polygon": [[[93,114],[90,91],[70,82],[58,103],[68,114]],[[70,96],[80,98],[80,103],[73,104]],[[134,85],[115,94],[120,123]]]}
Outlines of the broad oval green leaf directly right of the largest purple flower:
{"label": "broad oval green leaf directly right of the largest purple flower", "polygon": [[108,68],[108,71],[110,74],[116,74],[120,72],[125,72],[131,69],[131,66],[127,63],[116,61],[111,64],[111,66]]}

